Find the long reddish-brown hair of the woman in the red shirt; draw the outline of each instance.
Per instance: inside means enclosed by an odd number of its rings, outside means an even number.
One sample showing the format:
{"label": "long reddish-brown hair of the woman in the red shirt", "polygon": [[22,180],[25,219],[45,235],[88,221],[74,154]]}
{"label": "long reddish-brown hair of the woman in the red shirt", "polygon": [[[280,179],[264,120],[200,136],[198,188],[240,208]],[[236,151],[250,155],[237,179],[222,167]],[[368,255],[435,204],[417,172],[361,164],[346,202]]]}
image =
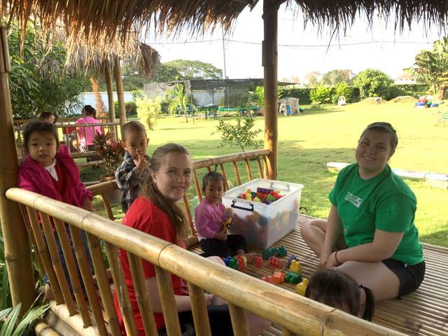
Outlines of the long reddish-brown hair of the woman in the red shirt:
{"label": "long reddish-brown hair of the woman in the red shirt", "polygon": [[[158,172],[160,165],[169,153],[179,153],[190,155],[185,147],[178,144],[165,144],[157,148],[151,157],[151,172]],[[151,200],[157,207],[162,209],[174,226],[176,237],[183,237],[187,230],[187,220],[183,211],[176,203],[170,201],[160,193],[160,190],[153,183],[151,174],[146,175],[146,180],[141,188],[141,195]]]}

